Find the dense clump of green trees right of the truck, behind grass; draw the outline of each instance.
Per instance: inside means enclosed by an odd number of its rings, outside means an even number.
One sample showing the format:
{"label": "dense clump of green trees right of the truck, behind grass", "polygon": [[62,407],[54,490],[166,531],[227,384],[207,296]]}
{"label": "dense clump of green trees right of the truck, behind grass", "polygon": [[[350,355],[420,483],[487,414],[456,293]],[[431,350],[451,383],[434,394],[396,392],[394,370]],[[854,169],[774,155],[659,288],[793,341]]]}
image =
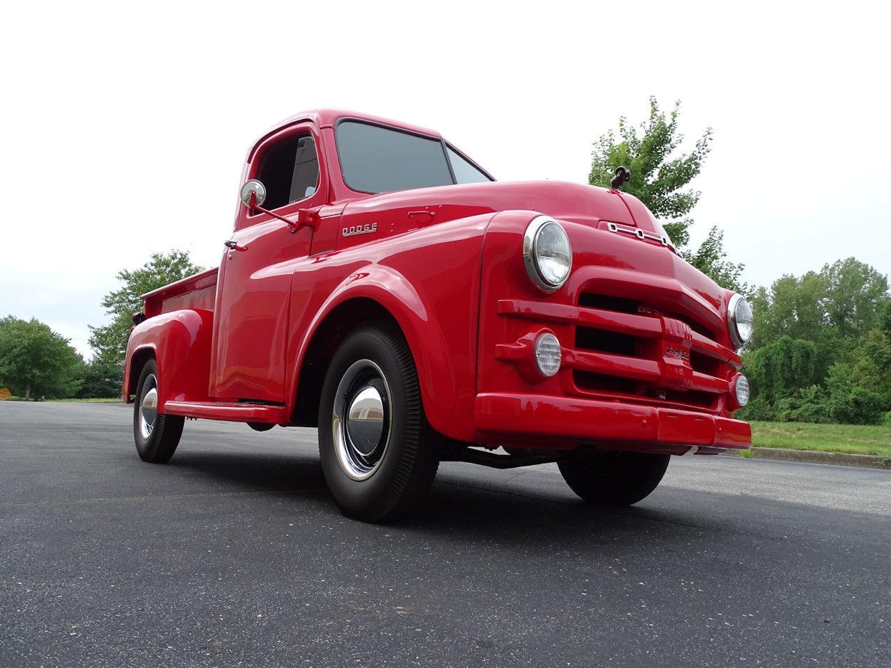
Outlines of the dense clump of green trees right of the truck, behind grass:
{"label": "dense clump of green trees right of the truck, behind grass", "polygon": [[891,409],[887,289],[886,276],[853,257],[758,289],[755,337],[744,355],[753,379],[745,414],[878,423]]}

